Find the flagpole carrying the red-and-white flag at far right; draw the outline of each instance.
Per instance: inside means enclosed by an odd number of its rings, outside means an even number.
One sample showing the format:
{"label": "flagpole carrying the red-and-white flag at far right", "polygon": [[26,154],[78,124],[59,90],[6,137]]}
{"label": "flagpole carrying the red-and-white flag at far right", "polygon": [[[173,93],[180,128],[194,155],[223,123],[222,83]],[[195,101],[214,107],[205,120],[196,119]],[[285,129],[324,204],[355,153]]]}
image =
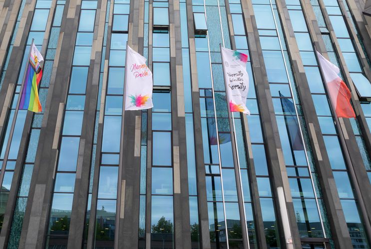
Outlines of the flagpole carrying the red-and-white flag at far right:
{"label": "flagpole carrying the red-and-white flag at far right", "polygon": [[[318,65],[319,65],[320,72],[321,72],[322,76],[324,77],[324,72],[322,70],[321,63],[320,63],[320,60],[319,60],[318,54],[317,54],[317,51],[318,50],[317,50],[316,44],[313,44],[313,47],[315,49],[315,55],[316,55],[316,59],[317,59]],[[328,95],[328,97],[330,99],[329,89],[328,89],[326,80],[325,80],[325,91],[326,91],[326,93],[327,93],[327,95]],[[365,224],[365,227],[366,227],[367,237],[368,238],[371,238],[371,224],[370,224],[370,220],[368,219],[365,202],[364,202],[364,200],[362,198],[360,185],[358,184],[358,180],[357,180],[356,173],[354,171],[352,159],[351,159],[351,156],[350,156],[349,151],[348,151],[347,143],[345,141],[343,127],[342,127],[342,125],[340,125],[339,118],[336,115],[336,108],[335,108],[334,104],[332,103],[331,99],[330,99],[330,105],[331,105],[331,109],[333,110],[333,116],[334,116],[334,119],[335,119],[335,122],[336,122],[336,126],[338,126],[338,129],[339,129],[338,134],[339,134],[340,141],[341,141],[341,144],[342,144],[342,147],[343,147],[343,151],[344,151],[344,154],[345,154],[345,158],[346,158],[346,161],[347,161],[347,164],[348,164],[348,170],[349,170],[349,173],[351,174],[351,179],[353,181],[353,186],[354,186],[354,188],[356,190],[356,195],[357,195],[358,201],[360,203],[359,206],[360,206],[362,217],[363,217],[363,221],[364,221],[363,223]]]}

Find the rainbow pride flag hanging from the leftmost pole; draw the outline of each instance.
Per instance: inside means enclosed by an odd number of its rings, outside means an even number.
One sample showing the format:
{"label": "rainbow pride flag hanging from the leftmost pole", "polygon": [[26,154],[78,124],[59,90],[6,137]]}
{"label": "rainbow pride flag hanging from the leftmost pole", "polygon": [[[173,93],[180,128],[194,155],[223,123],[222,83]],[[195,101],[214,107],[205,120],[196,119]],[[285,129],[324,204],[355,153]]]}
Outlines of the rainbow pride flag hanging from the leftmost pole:
{"label": "rainbow pride flag hanging from the leftmost pole", "polygon": [[19,109],[34,113],[41,112],[41,104],[38,98],[37,86],[41,80],[42,70],[40,62],[43,61],[40,52],[32,44],[31,52],[24,77],[22,94],[20,95]]}

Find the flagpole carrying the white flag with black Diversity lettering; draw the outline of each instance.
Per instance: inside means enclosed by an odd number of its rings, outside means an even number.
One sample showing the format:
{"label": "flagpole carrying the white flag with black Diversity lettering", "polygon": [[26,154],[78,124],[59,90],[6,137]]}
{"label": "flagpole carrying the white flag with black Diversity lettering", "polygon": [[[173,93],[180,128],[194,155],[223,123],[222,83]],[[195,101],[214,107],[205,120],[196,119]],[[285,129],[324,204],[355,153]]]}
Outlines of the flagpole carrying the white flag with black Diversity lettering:
{"label": "flagpole carrying the white flag with black Diversity lettering", "polygon": [[[249,234],[248,234],[247,221],[246,221],[244,193],[243,193],[243,189],[242,189],[240,160],[239,160],[238,150],[237,150],[237,138],[236,138],[236,132],[235,132],[235,121],[234,121],[234,117],[233,117],[233,114],[231,113],[230,106],[229,106],[229,101],[230,100],[229,100],[228,93],[227,93],[227,87],[228,87],[227,79],[226,79],[225,73],[224,73],[225,68],[224,68],[224,63],[223,63],[224,58],[223,58],[223,53],[222,53],[222,44],[219,44],[219,46],[220,46],[220,53],[221,53],[221,56],[222,56],[222,67],[223,67],[224,86],[225,86],[225,91],[226,91],[228,120],[229,120],[230,130],[231,130],[231,132],[233,132],[233,136],[231,136],[231,140],[233,141],[232,142],[232,153],[234,152],[235,155],[236,155],[236,162],[235,163],[237,165],[234,166],[234,169],[235,169],[235,177],[236,177],[236,185],[237,185],[236,186],[237,187],[237,195],[239,197],[238,199],[240,199],[240,201],[238,202],[238,206],[239,206],[239,210],[240,210],[240,220],[242,218],[242,220],[244,221],[244,224],[241,224],[242,232],[243,232],[242,233],[242,238],[244,239],[243,240],[244,248],[248,249],[248,248],[250,248],[250,243],[249,243]],[[234,156],[233,156],[233,158],[234,158]],[[242,201],[242,203],[241,203],[241,201]]]}

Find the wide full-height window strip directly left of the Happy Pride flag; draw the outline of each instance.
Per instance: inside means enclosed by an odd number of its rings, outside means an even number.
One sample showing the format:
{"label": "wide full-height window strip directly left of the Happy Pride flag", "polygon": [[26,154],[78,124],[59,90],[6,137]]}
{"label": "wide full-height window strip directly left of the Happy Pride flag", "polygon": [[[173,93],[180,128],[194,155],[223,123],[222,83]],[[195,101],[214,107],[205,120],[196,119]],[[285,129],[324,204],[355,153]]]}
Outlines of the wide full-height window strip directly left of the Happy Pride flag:
{"label": "wide full-height window strip directly left of the Happy Pride flag", "polygon": [[100,162],[94,238],[96,247],[112,248],[116,226],[118,165],[122,136],[122,105],[130,1],[114,1],[113,4],[108,81],[105,96],[102,96],[102,98],[105,98],[104,110],[100,110],[100,112],[104,112],[104,118],[102,145],[101,151],[99,151]]}

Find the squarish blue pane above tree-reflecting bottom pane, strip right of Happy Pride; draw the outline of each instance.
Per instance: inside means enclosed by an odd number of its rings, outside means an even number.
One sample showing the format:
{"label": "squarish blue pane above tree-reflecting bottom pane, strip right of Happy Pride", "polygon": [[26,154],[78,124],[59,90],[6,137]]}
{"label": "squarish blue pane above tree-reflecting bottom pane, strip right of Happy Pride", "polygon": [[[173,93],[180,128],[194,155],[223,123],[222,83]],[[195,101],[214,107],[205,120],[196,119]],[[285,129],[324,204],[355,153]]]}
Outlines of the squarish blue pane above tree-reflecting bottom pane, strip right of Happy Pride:
{"label": "squarish blue pane above tree-reflecting bottom pane, strip right of Happy Pride", "polygon": [[152,167],[152,194],[173,194],[173,169]]}

